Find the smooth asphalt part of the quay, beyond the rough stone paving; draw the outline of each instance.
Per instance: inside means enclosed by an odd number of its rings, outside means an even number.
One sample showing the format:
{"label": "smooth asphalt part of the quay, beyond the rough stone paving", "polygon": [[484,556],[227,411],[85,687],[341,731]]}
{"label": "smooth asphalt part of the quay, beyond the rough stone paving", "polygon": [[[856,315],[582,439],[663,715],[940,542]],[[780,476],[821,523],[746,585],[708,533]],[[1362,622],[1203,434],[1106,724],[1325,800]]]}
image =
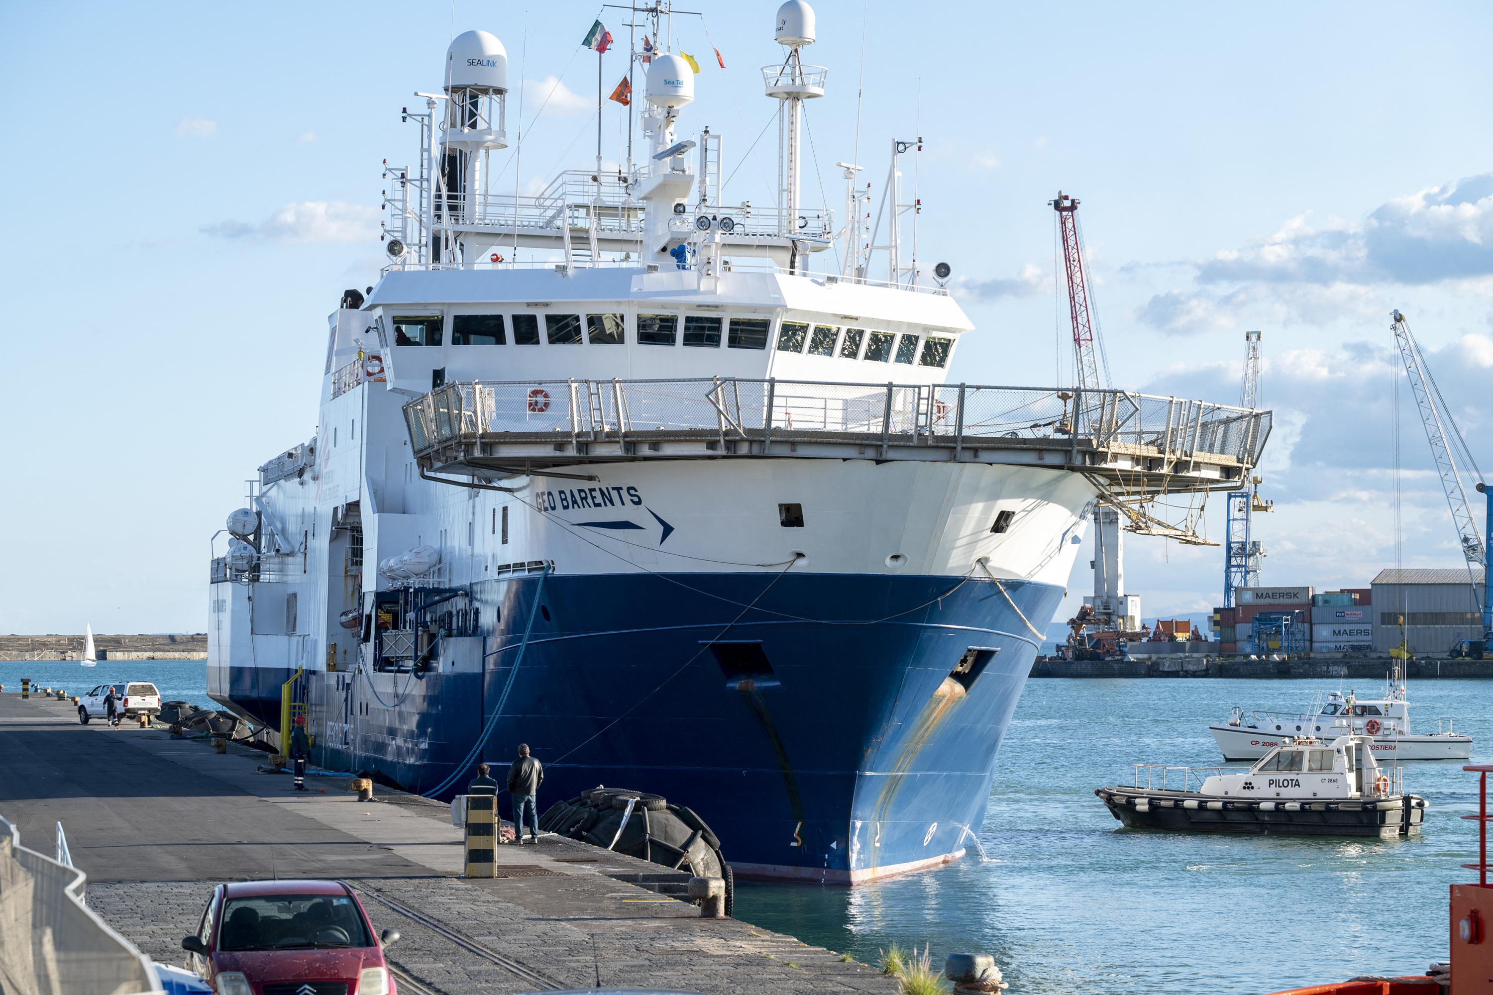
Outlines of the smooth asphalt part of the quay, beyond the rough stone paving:
{"label": "smooth asphalt part of the quay, beyond the rough stone paving", "polygon": [[6,691],[0,816],[16,823],[24,846],[43,853],[52,852],[61,822],[73,864],[90,882],[430,874],[390,849],[400,843],[397,831],[370,843],[309,814],[333,800],[348,809],[345,782],[328,786],[337,792],[330,798],[294,795],[290,777],[255,770],[263,753],[234,752],[218,756],[163,731],[84,726],[66,703],[22,701]]}

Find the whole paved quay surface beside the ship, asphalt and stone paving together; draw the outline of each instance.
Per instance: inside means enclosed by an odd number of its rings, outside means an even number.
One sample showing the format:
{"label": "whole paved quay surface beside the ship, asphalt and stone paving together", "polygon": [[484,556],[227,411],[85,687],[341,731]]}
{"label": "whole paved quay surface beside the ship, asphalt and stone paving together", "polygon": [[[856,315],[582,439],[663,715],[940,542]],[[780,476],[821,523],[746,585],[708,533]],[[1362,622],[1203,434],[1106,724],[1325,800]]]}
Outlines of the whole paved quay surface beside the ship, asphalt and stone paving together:
{"label": "whole paved quay surface beside the ship, asphalt and stone paving together", "polygon": [[[714,995],[867,992],[893,979],[841,955],[635,883],[664,870],[572,840],[497,847],[494,879],[466,880],[449,809],[346,777],[291,791],[266,755],[163,729],[78,724],[67,703],[0,694],[0,814],[33,846],[55,822],[87,871],[87,900],[149,956],[182,962],[219,882],[340,877],[357,888],[402,992],[669,988]],[[506,801],[506,800],[505,800]],[[543,801],[543,800],[542,800]],[[727,853],[729,853],[727,841]]]}

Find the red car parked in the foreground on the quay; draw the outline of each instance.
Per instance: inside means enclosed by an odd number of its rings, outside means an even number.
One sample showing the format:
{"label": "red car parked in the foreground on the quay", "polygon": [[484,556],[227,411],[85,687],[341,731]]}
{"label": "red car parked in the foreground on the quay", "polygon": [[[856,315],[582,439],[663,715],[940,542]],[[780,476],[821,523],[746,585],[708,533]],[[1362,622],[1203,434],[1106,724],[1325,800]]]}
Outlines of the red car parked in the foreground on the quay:
{"label": "red car parked in the foreground on the quay", "polygon": [[384,946],[342,882],[218,885],[197,934],[182,940],[187,968],[218,995],[397,995]]}

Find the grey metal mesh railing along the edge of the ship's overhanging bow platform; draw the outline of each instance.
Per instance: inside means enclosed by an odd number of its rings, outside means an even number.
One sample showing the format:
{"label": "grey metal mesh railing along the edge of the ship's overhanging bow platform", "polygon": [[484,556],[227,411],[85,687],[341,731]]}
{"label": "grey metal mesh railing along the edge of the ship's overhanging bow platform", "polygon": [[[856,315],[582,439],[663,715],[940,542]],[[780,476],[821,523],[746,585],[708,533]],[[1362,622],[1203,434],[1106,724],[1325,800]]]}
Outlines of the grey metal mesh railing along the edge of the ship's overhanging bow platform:
{"label": "grey metal mesh railing along the edge of the ship's overhanging bow platform", "polygon": [[1094,419],[1075,419],[1054,388],[811,380],[523,380],[451,383],[405,406],[415,455],[455,442],[639,442],[700,439],[845,442],[963,449],[1069,449],[1151,459],[1165,473],[1199,461],[1253,467],[1271,412],[1096,391]]}

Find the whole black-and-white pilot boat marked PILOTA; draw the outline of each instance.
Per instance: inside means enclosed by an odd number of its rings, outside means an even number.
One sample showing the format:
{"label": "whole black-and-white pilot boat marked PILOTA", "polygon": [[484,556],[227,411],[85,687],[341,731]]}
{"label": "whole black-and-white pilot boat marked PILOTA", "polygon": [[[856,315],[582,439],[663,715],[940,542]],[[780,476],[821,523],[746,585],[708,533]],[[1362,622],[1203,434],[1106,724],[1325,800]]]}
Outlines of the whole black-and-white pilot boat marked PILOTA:
{"label": "whole black-and-white pilot boat marked PILOTA", "polygon": [[1372,747],[1371,735],[1285,737],[1247,770],[1136,764],[1132,785],[1094,794],[1127,829],[1418,835],[1426,800]]}

